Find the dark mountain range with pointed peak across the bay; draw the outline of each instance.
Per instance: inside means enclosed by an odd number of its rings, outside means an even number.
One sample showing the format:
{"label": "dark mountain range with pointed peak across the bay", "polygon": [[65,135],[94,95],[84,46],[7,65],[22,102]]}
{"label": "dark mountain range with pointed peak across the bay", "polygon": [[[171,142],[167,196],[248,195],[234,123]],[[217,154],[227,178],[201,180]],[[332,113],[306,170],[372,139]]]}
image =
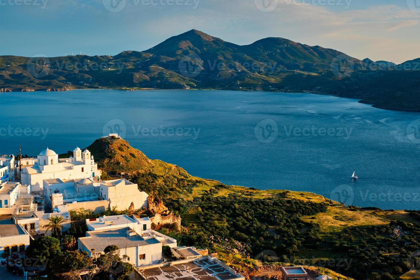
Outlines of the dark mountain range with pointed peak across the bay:
{"label": "dark mountain range with pointed peak across the bay", "polygon": [[148,50],[115,56],[2,56],[0,91],[301,91],[360,98],[380,108],[419,111],[419,60],[400,65],[358,60],[337,50],[274,37],[237,45],[193,29]]}

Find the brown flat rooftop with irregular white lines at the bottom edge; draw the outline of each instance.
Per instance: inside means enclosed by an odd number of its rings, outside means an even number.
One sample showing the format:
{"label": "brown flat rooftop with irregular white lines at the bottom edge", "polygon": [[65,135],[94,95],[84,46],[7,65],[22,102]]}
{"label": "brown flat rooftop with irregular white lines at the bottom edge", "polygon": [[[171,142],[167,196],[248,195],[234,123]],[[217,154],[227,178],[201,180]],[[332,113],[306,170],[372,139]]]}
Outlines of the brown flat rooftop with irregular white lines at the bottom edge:
{"label": "brown flat rooftop with irregular white lines at the bottom edge", "polygon": [[238,278],[220,264],[207,259],[142,270],[148,280],[228,280]]}

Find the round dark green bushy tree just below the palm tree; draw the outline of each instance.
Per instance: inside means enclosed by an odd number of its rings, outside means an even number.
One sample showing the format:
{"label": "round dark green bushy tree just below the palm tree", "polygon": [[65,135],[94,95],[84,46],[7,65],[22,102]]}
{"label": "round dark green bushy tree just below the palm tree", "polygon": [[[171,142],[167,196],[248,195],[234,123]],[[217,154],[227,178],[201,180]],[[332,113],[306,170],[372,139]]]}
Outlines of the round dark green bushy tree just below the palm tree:
{"label": "round dark green bushy tree just below the palm tree", "polygon": [[29,258],[54,259],[60,254],[60,241],[51,236],[41,236],[32,241],[26,249],[26,256]]}

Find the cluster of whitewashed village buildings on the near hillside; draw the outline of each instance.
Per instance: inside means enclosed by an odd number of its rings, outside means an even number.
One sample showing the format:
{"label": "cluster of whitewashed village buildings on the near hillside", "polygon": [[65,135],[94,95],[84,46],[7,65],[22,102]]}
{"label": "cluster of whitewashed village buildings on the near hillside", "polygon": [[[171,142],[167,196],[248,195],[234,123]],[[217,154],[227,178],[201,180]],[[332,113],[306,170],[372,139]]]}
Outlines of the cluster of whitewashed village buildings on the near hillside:
{"label": "cluster of whitewashed village buildings on the near hillside", "polygon": [[[89,209],[92,213],[109,209],[147,210],[153,203],[148,194],[139,191],[137,184],[124,178],[102,181],[93,155],[79,147],[74,148],[72,156],[63,159],[49,148],[37,157],[20,160],[15,160],[14,155],[3,155],[0,170],[0,256],[2,263],[13,267],[11,273],[22,275],[19,279],[45,274],[42,267],[26,269],[25,251],[42,236],[57,236],[58,231],[59,236],[66,236],[72,224],[72,210]],[[119,257],[134,266],[132,279],[244,279],[218,260],[217,254],[177,246],[176,239],[152,228],[173,222],[173,217],[169,218],[160,214],[89,218],[85,220],[88,230],[84,237],[77,239],[75,247],[88,256],[100,256],[107,247],[117,246]],[[55,226],[57,224],[59,227]],[[165,258],[163,248],[169,248],[173,258]],[[81,279],[88,271],[80,272]],[[284,273],[285,280],[296,279],[296,275],[307,279],[303,267],[287,271],[291,274]]]}

